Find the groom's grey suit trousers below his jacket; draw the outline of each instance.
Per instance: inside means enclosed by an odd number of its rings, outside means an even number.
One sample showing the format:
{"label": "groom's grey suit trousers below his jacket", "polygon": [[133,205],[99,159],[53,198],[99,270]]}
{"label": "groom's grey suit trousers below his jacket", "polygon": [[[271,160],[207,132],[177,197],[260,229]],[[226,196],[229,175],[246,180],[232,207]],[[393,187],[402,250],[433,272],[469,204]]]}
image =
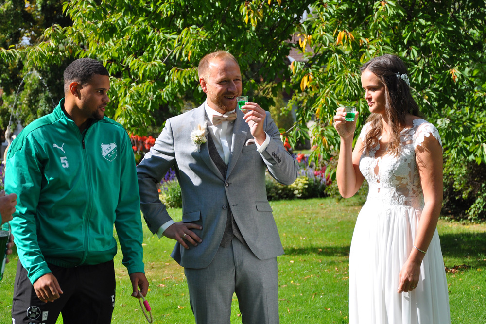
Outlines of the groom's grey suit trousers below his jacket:
{"label": "groom's grey suit trousers below his jacket", "polygon": [[229,324],[236,292],[243,324],[278,324],[277,258],[260,260],[236,237],[208,267],[184,268],[196,324]]}

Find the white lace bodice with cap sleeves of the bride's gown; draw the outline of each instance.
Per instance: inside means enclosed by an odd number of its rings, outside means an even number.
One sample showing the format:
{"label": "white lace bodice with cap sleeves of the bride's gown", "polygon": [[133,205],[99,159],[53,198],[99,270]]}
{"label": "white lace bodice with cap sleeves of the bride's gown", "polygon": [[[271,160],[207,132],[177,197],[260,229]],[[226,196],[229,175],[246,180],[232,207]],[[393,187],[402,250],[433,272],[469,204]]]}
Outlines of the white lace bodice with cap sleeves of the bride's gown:
{"label": "white lace bodice with cap sleeves of the bride's gown", "polygon": [[[360,138],[365,139],[370,124],[361,130]],[[423,208],[424,199],[418,174],[415,149],[422,145],[425,137],[434,136],[442,146],[437,128],[424,119],[415,119],[413,127],[401,132],[399,156],[385,153],[375,158],[380,148],[364,149],[360,158],[360,171],[368,181],[367,201],[378,201],[381,205],[405,205]]]}

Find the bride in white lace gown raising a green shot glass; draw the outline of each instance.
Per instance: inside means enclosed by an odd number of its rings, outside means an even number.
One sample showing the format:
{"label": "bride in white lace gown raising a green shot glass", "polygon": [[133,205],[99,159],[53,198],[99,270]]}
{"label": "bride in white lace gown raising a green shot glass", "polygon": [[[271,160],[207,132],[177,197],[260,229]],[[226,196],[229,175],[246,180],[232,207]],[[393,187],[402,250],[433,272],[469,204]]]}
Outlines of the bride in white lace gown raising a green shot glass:
{"label": "bride in white lace gown raising a green shot glass", "polygon": [[364,179],[369,193],[349,254],[350,324],[450,324],[437,234],[442,205],[442,142],[419,118],[404,63],[382,55],[361,68],[371,112],[352,149],[356,121],[338,108],[337,184],[344,198]]}

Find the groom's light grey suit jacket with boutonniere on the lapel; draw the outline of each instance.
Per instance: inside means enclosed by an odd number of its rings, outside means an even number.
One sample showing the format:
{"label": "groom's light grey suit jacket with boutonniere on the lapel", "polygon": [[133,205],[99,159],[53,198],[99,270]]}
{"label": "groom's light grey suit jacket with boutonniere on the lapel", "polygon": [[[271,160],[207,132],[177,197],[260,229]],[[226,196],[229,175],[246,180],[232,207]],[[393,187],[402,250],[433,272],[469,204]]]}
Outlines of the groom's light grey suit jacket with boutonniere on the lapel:
{"label": "groom's light grey suit jacket with boutonniere on the lapel", "polygon": [[206,120],[204,104],[167,119],[155,145],[137,166],[140,208],[152,233],[171,220],[157,191],[157,184],[171,167],[182,191],[182,221],[203,227],[192,230],[203,240],[197,246],[189,244],[186,250],[176,243],[172,256],[183,267],[209,265],[221,243],[228,208],[255,256],[264,260],[283,254],[266,196],[265,169],[278,182],[289,185],[297,177],[295,160],[285,150],[268,112],[264,130],[271,138],[266,150],[260,154],[255,144],[244,146],[253,136],[243,116],[237,109],[226,179],[209,156],[208,143],[198,152],[191,141],[191,132]]}

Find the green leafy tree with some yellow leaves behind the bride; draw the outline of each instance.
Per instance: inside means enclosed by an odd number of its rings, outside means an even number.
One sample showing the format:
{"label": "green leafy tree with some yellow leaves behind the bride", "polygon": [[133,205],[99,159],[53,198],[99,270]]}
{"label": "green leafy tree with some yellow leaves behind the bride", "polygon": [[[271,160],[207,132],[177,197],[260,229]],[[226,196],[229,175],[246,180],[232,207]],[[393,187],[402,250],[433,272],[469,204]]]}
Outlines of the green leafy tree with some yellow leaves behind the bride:
{"label": "green leafy tree with some yellow leaves behind the bride", "polygon": [[[462,195],[468,178],[456,183],[459,177],[447,176],[471,165],[484,170],[486,162],[485,1],[321,0],[311,6],[300,44],[305,49],[310,43],[313,51],[307,62],[292,64],[299,87],[291,100],[299,107],[293,138],[306,136],[302,130],[315,118],[312,136],[319,150],[314,155],[339,147],[331,122],[340,105],[358,107],[359,131],[369,114],[359,67],[383,53],[397,54],[409,68],[422,113],[442,137],[444,174],[451,182],[446,187],[453,187],[452,195]],[[480,205],[469,216],[486,218],[485,186],[467,192],[479,195]]]}

